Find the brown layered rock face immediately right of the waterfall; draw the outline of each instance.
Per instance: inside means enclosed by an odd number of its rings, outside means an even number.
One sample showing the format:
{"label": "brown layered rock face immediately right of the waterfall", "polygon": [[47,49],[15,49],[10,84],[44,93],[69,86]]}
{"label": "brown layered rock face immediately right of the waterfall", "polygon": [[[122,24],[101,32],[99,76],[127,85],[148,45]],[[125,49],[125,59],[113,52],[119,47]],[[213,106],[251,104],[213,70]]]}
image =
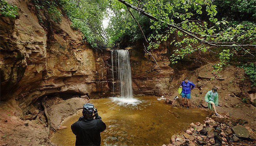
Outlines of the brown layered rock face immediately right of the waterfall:
{"label": "brown layered rock face immediately right of the waterfall", "polygon": [[129,49],[133,94],[161,96],[169,90],[172,76],[174,76],[174,70],[169,66],[167,49],[159,48],[151,52],[158,65],[143,49],[143,47]]}

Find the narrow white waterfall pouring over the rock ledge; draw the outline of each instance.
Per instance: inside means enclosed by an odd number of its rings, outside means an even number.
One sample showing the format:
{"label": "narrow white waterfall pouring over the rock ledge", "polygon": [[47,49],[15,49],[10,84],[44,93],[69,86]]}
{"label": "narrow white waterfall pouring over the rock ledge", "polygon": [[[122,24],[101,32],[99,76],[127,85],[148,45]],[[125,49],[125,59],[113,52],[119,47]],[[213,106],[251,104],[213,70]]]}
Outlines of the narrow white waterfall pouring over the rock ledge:
{"label": "narrow white waterfall pouring over the rock ledge", "polygon": [[[132,75],[131,64],[128,50],[112,50],[112,77],[113,77],[113,97],[119,89],[119,96],[123,98],[132,98]],[[116,82],[114,79],[116,74]],[[115,85],[117,83],[117,85]]]}

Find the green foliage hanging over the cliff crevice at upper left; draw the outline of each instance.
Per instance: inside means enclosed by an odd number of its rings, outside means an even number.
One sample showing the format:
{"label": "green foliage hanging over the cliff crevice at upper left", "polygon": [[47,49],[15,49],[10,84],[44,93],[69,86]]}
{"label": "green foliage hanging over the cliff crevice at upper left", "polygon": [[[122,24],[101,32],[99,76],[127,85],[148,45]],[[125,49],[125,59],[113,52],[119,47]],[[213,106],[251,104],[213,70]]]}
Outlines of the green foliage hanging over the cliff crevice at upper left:
{"label": "green foliage hanging over the cliff crevice at upper left", "polygon": [[[53,20],[55,23],[61,22],[62,14],[61,11],[57,8],[57,4],[55,1],[49,0],[35,0],[34,1],[35,7],[37,9],[43,9],[47,12],[48,16]],[[42,22],[42,16],[39,16],[39,21]]]}

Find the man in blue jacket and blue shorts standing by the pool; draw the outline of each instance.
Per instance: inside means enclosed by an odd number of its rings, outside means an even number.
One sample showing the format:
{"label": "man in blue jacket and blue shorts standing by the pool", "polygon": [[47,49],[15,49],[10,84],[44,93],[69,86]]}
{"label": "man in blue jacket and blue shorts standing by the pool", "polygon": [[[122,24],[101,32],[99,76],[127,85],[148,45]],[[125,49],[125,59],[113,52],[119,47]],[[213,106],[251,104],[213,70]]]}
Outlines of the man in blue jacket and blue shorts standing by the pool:
{"label": "man in blue jacket and blue shorts standing by the pool", "polygon": [[189,81],[188,78],[184,78],[184,81],[181,82],[180,88],[182,88],[181,97],[182,97],[182,107],[184,107],[185,98],[189,108],[189,99],[191,98],[191,89],[195,88],[195,84]]}

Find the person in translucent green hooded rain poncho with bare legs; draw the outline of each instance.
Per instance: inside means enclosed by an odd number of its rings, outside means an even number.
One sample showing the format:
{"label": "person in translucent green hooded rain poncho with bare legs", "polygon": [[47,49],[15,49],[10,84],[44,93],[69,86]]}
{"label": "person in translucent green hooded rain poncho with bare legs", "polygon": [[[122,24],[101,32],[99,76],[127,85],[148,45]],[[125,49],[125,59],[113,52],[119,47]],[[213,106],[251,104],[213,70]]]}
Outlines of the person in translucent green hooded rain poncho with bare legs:
{"label": "person in translucent green hooded rain poncho with bare legs", "polygon": [[218,100],[219,100],[219,95],[218,95],[218,89],[216,87],[212,88],[212,90],[208,91],[204,96],[204,101],[208,103],[208,108],[210,111],[209,116],[211,115],[212,111],[215,112],[216,116],[220,116],[216,111],[216,107],[218,106]]}

